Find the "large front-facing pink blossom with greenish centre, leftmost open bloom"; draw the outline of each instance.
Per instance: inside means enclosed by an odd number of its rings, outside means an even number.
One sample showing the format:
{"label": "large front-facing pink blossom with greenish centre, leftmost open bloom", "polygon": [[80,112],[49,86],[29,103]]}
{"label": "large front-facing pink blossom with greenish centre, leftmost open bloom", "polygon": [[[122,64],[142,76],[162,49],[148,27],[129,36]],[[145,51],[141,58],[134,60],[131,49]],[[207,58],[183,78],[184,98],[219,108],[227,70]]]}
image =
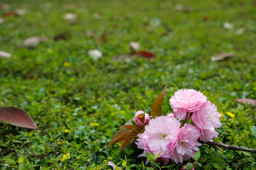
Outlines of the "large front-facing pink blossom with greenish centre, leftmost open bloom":
{"label": "large front-facing pink blossom with greenish centre, leftmost open bloom", "polygon": [[174,117],[160,116],[150,119],[144,133],[138,134],[137,147],[144,149],[139,156],[146,156],[146,152],[154,155],[160,153],[158,158],[169,159],[177,142],[180,125],[181,123]]}

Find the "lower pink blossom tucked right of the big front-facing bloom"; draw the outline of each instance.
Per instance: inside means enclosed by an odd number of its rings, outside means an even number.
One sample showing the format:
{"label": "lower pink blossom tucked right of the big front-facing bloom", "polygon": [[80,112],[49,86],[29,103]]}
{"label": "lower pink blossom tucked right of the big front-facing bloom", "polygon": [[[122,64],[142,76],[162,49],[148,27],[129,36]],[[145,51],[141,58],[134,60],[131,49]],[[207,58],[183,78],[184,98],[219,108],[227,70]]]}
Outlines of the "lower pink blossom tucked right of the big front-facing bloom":
{"label": "lower pink blossom tucked right of the big front-facing bloom", "polygon": [[199,130],[191,124],[186,124],[180,129],[176,146],[171,153],[171,159],[176,163],[193,158],[201,144],[197,141]]}

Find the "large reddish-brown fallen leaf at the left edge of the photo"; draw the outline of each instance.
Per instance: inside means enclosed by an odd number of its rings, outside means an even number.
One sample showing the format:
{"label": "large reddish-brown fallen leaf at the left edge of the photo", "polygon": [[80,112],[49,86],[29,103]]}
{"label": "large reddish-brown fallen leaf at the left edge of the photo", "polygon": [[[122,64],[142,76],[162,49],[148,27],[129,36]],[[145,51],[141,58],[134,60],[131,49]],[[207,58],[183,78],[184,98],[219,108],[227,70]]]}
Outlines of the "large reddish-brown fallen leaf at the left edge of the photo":
{"label": "large reddish-brown fallen leaf at the left edge of the photo", "polygon": [[0,109],[0,121],[17,127],[38,129],[36,123],[25,110],[7,106]]}

